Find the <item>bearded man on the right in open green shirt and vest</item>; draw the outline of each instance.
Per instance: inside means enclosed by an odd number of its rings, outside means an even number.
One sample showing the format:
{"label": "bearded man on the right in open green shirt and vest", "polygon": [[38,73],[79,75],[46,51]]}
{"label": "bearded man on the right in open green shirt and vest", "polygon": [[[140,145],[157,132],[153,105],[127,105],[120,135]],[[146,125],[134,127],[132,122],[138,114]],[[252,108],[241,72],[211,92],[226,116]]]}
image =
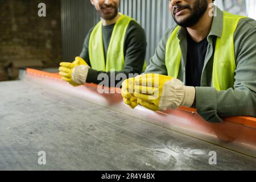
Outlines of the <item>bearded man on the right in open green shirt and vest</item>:
{"label": "bearded man on the right in open green shirt and vest", "polygon": [[196,107],[209,122],[256,117],[256,21],[213,0],[170,0],[169,9],[177,26],[163,36],[147,74],[123,82],[125,104]]}

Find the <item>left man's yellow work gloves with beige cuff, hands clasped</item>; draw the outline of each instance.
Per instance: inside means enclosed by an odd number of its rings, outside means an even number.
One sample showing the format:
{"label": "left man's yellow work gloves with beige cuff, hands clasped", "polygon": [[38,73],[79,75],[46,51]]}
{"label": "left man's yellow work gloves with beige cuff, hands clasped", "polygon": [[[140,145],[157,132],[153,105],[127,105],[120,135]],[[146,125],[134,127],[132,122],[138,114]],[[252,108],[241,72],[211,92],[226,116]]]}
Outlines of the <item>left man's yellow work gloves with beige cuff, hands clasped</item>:
{"label": "left man's yellow work gloves with beige cuff, hands clasped", "polygon": [[85,84],[89,68],[81,57],[76,57],[73,63],[60,63],[59,74],[62,80],[73,86],[79,86]]}

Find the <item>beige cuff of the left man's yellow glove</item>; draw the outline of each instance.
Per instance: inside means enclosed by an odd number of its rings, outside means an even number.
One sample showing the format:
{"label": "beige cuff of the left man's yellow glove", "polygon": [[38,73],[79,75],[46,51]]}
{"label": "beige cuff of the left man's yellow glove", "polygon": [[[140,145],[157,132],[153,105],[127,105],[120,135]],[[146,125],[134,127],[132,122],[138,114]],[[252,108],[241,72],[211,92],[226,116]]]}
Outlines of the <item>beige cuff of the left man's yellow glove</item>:
{"label": "beige cuff of the left man's yellow glove", "polygon": [[89,68],[88,65],[80,65],[73,68],[72,80],[77,84],[85,84]]}

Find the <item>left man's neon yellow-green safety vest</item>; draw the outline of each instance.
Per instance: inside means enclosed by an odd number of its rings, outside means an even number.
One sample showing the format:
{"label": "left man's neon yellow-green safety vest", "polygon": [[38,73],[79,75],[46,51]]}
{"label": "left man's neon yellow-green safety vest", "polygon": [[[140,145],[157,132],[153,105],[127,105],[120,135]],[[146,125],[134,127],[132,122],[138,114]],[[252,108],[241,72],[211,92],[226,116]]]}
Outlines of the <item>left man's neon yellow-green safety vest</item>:
{"label": "left man's neon yellow-green safety vest", "polygon": [[125,35],[127,27],[132,18],[121,15],[115,23],[109,42],[108,53],[105,61],[104,46],[102,38],[102,21],[100,21],[90,34],[89,39],[89,59],[92,69],[97,71],[121,71],[125,67],[125,55],[123,47],[125,44]]}

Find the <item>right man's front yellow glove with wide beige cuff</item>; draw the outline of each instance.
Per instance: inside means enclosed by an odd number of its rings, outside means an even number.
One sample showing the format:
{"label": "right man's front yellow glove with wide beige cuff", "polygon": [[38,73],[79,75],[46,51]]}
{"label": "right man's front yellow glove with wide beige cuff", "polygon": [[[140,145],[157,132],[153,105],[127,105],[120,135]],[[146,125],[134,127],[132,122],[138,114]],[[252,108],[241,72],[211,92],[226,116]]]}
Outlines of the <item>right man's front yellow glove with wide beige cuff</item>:
{"label": "right man's front yellow glove with wide beige cuff", "polygon": [[194,87],[184,86],[173,77],[150,73],[135,78],[134,96],[138,104],[153,111],[191,107],[195,94]]}

